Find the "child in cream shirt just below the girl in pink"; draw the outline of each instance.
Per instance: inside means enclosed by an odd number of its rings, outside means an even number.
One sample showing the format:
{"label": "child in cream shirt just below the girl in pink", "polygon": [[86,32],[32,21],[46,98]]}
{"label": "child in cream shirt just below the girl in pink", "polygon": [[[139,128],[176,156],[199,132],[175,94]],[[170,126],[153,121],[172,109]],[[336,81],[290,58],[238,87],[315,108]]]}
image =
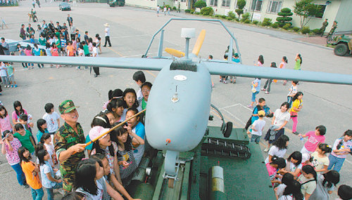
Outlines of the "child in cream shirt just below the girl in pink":
{"label": "child in cream shirt just below the girl in pink", "polygon": [[327,167],[329,166],[329,158],[326,154],[332,152],[332,148],[327,144],[319,144],[315,152],[310,156],[313,159],[313,166],[315,171],[322,174],[327,172]]}

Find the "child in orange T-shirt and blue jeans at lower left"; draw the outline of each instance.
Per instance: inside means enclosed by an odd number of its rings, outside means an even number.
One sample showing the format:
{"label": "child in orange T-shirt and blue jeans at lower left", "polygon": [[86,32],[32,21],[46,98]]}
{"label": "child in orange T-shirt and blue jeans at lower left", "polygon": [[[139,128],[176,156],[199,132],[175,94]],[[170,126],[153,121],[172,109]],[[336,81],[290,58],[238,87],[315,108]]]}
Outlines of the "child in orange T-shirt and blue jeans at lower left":
{"label": "child in orange T-shirt and blue jeans at lower left", "polygon": [[23,173],[25,173],[25,180],[32,190],[33,200],[42,199],[44,191],[39,179],[39,167],[34,164],[34,162],[30,161],[32,157],[26,147],[20,147],[18,149],[18,156],[20,156],[20,165],[23,169]]}

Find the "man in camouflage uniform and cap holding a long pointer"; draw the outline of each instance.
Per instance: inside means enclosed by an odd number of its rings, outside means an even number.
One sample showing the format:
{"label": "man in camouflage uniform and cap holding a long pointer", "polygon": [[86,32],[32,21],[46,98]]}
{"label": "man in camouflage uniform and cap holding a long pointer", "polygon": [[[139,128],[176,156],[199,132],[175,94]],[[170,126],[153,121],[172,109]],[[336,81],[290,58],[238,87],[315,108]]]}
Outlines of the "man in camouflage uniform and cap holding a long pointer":
{"label": "man in camouflage uniform and cap holding a long pointer", "polygon": [[[77,123],[77,107],[72,100],[61,102],[58,110],[65,121],[55,134],[55,151],[60,161],[60,172],[65,192],[73,190],[75,168],[84,158],[84,134],[82,126]],[[74,154],[75,153],[75,154]]]}

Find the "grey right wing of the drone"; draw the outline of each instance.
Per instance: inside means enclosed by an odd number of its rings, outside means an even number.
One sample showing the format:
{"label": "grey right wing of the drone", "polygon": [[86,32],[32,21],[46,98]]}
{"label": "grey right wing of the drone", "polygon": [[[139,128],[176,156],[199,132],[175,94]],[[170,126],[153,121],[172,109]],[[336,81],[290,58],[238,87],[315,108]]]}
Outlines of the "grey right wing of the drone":
{"label": "grey right wing of the drone", "polygon": [[243,76],[262,79],[281,79],[307,81],[326,84],[352,85],[351,74],[332,74],[325,72],[310,72],[294,69],[277,69],[272,67],[255,67],[237,65],[228,62],[203,62],[212,75]]}

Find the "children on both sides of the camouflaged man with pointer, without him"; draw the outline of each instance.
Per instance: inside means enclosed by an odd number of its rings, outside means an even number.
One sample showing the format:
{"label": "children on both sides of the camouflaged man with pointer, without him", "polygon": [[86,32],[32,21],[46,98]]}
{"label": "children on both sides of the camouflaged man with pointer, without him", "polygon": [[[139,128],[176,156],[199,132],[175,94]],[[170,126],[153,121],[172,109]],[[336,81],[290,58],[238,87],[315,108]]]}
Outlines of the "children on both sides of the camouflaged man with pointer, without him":
{"label": "children on both sides of the camouflaged man with pointer, without him", "polygon": [[[92,129],[87,135],[87,142],[95,140],[125,119],[130,119],[123,126],[88,146],[87,153],[92,159],[82,160],[76,169],[77,192],[93,199],[96,195],[103,195],[106,199],[108,198],[106,194],[114,199],[122,199],[120,194],[132,199],[125,187],[130,184],[145,149],[143,116],[134,118],[132,116],[145,109],[152,86],[146,82],[142,71],[136,72],[133,79],[139,85],[139,91],[136,93],[132,88],[127,88],[123,92],[120,89],[109,91],[108,102],[103,106],[102,112],[92,120]],[[42,199],[44,188],[48,199],[54,199],[54,189],[61,192],[63,187],[60,171],[56,168],[58,159],[53,144],[54,134],[60,127],[60,116],[54,111],[54,105],[47,103],[44,106],[45,114],[42,119],[37,120],[38,131],[35,140],[32,134],[34,126],[32,116],[23,109],[19,101],[15,101],[13,107],[11,121],[6,108],[0,105],[1,152],[6,154],[8,164],[17,174],[18,183],[25,188],[31,188],[33,199]],[[92,173],[92,177],[89,176],[91,173],[85,167],[89,164],[94,165],[93,171],[99,169],[101,172],[99,180],[95,177],[97,171],[94,175]],[[100,180],[102,177],[105,179]],[[92,189],[94,185],[98,189],[105,189],[103,192],[100,190],[97,192]],[[70,195],[72,194],[68,194]]]}

